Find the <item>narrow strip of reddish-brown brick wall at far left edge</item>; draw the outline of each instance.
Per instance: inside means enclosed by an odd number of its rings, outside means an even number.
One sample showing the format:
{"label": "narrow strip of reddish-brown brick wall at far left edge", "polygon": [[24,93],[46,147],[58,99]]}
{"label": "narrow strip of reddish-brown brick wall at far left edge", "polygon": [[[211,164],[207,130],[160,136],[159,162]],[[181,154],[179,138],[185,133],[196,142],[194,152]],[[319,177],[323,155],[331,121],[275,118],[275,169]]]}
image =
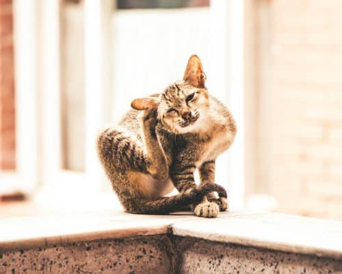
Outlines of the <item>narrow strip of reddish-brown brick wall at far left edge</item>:
{"label": "narrow strip of reddish-brown brick wall at far left edge", "polygon": [[0,169],[15,168],[12,1],[0,0]]}

